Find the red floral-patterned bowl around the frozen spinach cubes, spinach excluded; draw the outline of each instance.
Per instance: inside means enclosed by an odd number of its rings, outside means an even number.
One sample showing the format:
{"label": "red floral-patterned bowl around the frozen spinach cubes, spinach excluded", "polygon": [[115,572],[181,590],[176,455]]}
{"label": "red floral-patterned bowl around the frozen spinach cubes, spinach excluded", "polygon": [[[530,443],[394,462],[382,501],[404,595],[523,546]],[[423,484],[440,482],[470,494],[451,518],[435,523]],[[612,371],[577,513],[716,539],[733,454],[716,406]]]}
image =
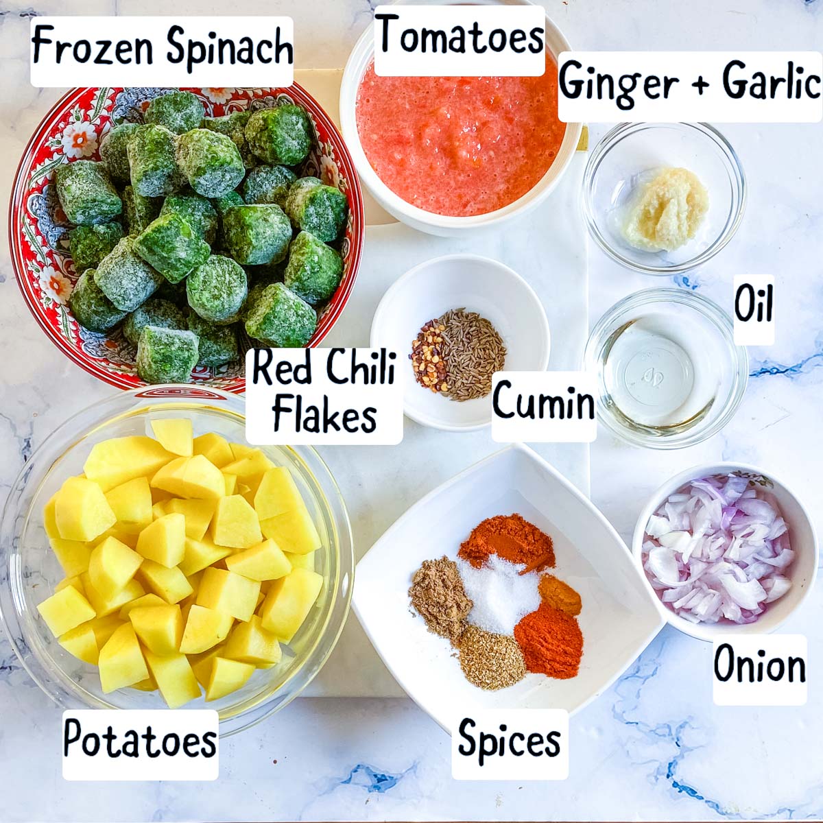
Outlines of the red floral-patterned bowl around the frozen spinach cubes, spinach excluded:
{"label": "red floral-patterned bowl around the frozen spinach cubes, spinach excluded", "polygon": [[[54,170],[79,158],[97,160],[100,140],[118,123],[142,122],[148,103],[165,94],[163,88],[72,89],[46,114],[31,137],[12,187],[9,207],[9,248],[17,283],[31,313],[49,339],[81,368],[119,388],[143,381],[134,365],[136,351],[122,333],[96,334],[82,328],[68,308],[77,274],[68,254],[71,228],[53,185]],[[342,239],[343,277],[332,300],[319,316],[309,346],[318,346],[342,313],[354,286],[365,233],[363,198],[354,164],[334,123],[314,98],[296,83],[288,88],[190,88],[202,100],[204,114],[219,117],[279,102],[296,103],[309,114],[317,137],[305,161],[305,174],[335,185],[346,194],[349,217]],[[229,392],[244,390],[242,361],[219,369],[197,368],[194,384]]]}

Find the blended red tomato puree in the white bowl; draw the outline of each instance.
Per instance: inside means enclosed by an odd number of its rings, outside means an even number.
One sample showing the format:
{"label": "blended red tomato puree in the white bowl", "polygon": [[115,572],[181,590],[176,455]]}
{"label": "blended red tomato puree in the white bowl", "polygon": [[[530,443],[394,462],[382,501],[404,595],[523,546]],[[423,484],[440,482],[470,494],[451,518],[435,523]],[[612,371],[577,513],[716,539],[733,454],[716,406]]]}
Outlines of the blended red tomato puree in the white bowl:
{"label": "blended red tomato puree in the white bowl", "polygon": [[523,197],[554,162],[557,67],[542,77],[378,77],[356,104],[360,143],[395,194],[426,212],[488,214]]}

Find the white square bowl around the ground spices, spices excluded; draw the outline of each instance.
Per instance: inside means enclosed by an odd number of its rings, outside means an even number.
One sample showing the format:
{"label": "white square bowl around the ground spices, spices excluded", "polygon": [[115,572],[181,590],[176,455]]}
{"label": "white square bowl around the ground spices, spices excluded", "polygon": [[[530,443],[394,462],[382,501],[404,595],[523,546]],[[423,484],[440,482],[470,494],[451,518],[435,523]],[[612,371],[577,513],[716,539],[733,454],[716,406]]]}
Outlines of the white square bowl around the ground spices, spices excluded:
{"label": "white square bowl around the ground spices, spices excluded", "polygon": [[[408,589],[423,560],[453,559],[477,523],[515,512],[551,535],[554,571],[583,598],[583,660],[570,680],[528,674],[515,686],[485,691],[463,677],[449,641],[426,630]],[[663,626],[611,524],[521,445],[481,460],[412,505],[357,565],[352,606],[398,683],[448,732],[472,709],[577,711],[611,686]]]}

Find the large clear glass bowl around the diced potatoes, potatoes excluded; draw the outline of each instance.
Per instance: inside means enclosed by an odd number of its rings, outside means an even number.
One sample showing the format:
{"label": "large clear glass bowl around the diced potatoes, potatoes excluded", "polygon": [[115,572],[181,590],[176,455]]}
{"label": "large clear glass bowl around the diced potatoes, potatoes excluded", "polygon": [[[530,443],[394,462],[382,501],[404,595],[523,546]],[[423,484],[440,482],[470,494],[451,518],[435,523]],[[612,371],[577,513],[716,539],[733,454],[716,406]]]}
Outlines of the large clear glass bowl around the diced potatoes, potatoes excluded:
{"label": "large clear glass bowl around the diced potatoes, potatoes excluded", "polygon": [[[63,709],[159,709],[157,693],[100,689],[97,669],[58,644],[36,610],[53,593],[63,570],[49,547],[43,507],[63,481],[82,472],[91,447],[110,437],[151,434],[149,422],[184,412],[194,434],[207,431],[245,442],[244,402],[216,388],[164,385],[136,388],[95,403],[69,418],[32,454],[12,485],[0,523],[0,616],[17,657]],[[354,549],[346,505],[318,453],[307,446],[261,447],[273,463],[289,467],[314,518],[323,546],[315,569],[323,589],[276,667],[258,669],[242,689],[221,700],[193,700],[185,708],[216,709],[221,737],[282,709],[319,672],[340,636],[351,601]]]}

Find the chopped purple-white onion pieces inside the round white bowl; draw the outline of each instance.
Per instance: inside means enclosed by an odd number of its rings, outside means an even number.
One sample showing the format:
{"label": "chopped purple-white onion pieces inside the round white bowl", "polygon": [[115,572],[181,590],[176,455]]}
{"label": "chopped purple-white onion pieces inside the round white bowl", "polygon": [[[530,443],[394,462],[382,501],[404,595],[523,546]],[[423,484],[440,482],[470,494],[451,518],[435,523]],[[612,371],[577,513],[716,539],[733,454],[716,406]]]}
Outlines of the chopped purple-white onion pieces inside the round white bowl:
{"label": "chopped purple-white onion pieces inside the round white bowl", "polygon": [[753,623],[792,587],[785,572],[793,560],[774,497],[737,474],[691,481],[646,525],[646,575],[692,623]]}

